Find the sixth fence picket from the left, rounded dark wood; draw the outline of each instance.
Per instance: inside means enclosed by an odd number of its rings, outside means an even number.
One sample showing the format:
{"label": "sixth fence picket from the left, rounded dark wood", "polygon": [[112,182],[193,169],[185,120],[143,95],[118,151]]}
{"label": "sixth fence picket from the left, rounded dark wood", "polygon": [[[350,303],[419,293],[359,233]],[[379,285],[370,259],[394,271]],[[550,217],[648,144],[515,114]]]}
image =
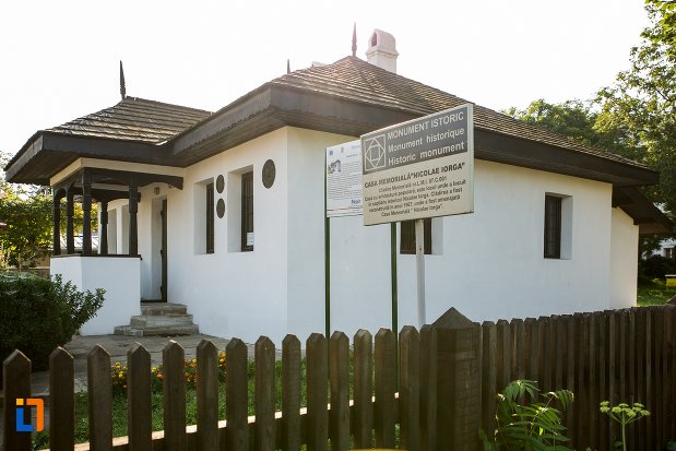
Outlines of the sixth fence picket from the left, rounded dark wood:
{"label": "sixth fence picket from the left, rounded dark wood", "polygon": [[213,342],[202,340],[198,357],[198,450],[218,449],[218,349]]}

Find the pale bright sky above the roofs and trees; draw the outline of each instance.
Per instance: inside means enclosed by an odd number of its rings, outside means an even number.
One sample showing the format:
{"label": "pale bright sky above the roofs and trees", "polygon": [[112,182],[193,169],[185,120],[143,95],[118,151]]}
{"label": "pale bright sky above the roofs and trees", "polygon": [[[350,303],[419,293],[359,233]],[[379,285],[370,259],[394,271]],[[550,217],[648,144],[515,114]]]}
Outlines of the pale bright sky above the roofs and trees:
{"label": "pale bright sky above the roofs and trees", "polygon": [[641,0],[22,0],[0,5],[0,151],[127,94],[215,111],[263,83],[396,39],[398,73],[501,110],[586,99],[629,66]]}

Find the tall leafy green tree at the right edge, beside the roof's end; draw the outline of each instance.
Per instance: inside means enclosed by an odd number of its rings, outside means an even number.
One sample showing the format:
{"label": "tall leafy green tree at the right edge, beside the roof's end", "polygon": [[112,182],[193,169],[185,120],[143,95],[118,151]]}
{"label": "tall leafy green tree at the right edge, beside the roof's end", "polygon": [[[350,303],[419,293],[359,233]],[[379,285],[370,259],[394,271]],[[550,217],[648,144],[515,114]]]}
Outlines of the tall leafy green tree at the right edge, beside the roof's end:
{"label": "tall leafy green tree at the right edge, beside the roof's end", "polygon": [[594,128],[616,137],[630,156],[659,170],[660,183],[645,193],[676,213],[676,3],[649,0],[651,26],[631,49],[630,69],[601,90]]}

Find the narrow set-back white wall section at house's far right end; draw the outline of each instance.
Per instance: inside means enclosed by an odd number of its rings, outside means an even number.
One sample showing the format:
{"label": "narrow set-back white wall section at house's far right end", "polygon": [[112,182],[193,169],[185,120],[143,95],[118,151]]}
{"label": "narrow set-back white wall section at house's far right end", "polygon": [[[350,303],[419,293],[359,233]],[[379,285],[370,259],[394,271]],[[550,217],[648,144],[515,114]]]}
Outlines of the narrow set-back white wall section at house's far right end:
{"label": "narrow set-back white wall section at house's far right end", "polygon": [[610,235],[610,308],[636,306],[639,226],[621,209],[613,209]]}

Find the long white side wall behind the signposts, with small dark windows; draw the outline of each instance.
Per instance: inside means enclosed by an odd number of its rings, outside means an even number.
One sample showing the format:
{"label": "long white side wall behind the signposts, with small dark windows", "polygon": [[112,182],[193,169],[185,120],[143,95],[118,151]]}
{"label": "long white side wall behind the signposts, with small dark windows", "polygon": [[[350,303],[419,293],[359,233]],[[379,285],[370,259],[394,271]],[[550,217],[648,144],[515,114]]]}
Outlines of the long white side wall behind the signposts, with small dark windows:
{"label": "long white side wall behind the signposts, with small dark windows", "polygon": [[[474,189],[474,213],[432,223],[427,322],[450,307],[474,321],[609,307],[610,185],[476,161]],[[545,193],[569,197],[570,258],[543,257]],[[331,223],[331,320],[335,329],[376,331],[392,324],[390,229],[360,219]],[[398,286],[400,328],[417,324],[415,256],[398,252]]]}

